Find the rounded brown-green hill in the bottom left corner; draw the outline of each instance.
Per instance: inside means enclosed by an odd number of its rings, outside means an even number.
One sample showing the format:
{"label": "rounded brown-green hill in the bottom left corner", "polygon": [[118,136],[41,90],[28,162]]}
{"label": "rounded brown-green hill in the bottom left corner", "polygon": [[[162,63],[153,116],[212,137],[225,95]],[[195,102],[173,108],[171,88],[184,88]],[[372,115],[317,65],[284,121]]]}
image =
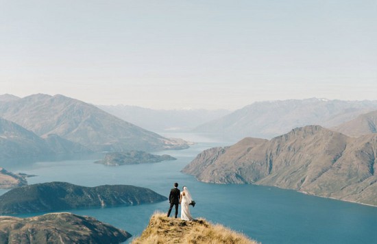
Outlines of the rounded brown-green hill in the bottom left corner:
{"label": "rounded brown-green hill in the bottom left corner", "polygon": [[0,216],[0,243],[123,243],[130,237],[93,217],[69,212],[29,218]]}

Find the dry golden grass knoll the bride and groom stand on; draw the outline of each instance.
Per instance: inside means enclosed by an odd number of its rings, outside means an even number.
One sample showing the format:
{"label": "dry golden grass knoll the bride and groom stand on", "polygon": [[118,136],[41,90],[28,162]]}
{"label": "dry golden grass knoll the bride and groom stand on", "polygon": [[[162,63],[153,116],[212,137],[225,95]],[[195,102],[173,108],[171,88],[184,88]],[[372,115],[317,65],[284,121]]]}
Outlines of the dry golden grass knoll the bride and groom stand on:
{"label": "dry golden grass knoll the bride and groom stand on", "polygon": [[165,213],[152,215],[149,225],[132,244],[257,244],[245,235],[229,230],[223,225],[208,223],[205,219],[184,221],[166,217]]}

